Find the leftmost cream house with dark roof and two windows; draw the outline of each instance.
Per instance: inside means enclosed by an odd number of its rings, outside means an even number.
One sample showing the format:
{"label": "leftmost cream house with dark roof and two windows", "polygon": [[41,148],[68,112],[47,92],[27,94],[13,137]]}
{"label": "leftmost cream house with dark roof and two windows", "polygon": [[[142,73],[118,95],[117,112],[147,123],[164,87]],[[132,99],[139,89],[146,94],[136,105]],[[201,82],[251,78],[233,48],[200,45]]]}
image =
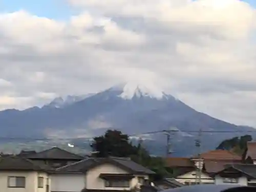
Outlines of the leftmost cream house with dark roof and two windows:
{"label": "leftmost cream house with dark roof and two windows", "polygon": [[48,192],[50,170],[22,157],[0,157],[1,192]]}

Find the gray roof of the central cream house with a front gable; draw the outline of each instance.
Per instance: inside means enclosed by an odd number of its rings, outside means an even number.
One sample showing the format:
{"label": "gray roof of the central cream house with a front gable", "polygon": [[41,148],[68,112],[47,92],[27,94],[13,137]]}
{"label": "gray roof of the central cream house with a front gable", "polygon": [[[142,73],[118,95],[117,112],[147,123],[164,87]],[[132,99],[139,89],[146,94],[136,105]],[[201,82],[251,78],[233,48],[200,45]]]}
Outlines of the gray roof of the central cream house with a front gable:
{"label": "gray roof of the central cream house with a front gable", "polygon": [[141,174],[155,174],[152,170],[143,167],[142,165],[135,163],[130,159],[111,157],[111,158],[87,158],[70,165],[66,165],[60,168],[57,168],[57,172],[69,172],[69,173],[85,173],[90,168],[97,166],[103,163],[111,163],[120,168],[128,169],[132,173],[141,173]]}

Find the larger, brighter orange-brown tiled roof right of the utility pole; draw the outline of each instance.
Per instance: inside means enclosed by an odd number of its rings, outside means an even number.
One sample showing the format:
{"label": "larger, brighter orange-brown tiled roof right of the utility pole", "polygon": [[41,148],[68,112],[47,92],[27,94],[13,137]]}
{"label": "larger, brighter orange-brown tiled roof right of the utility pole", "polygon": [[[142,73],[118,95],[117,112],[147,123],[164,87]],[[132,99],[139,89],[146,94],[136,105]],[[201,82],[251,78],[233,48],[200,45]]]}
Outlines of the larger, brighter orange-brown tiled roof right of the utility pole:
{"label": "larger, brighter orange-brown tiled roof right of the utility pole", "polygon": [[205,160],[241,160],[237,154],[227,150],[213,150],[201,154],[201,158]]}

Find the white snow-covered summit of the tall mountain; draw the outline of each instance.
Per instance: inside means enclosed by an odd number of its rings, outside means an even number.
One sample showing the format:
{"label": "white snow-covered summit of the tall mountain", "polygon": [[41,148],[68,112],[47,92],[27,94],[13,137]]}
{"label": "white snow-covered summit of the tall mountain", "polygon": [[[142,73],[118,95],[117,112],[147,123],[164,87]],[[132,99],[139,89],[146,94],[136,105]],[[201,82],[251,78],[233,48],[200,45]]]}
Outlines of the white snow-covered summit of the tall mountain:
{"label": "white snow-covered summit of the tall mountain", "polygon": [[116,87],[122,91],[119,97],[123,99],[132,99],[134,97],[150,97],[156,99],[166,98],[166,94],[161,88],[153,84],[142,84],[136,82],[128,82],[126,84],[120,84]]}

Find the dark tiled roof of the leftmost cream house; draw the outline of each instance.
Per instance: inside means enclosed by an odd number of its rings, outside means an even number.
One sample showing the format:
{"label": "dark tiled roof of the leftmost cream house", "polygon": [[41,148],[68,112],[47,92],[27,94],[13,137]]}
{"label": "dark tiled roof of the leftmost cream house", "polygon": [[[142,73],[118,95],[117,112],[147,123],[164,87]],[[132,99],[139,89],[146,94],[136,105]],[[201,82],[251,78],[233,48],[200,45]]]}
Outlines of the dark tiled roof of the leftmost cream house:
{"label": "dark tiled roof of the leftmost cream house", "polygon": [[0,170],[40,170],[49,171],[46,165],[35,163],[19,156],[0,157]]}

